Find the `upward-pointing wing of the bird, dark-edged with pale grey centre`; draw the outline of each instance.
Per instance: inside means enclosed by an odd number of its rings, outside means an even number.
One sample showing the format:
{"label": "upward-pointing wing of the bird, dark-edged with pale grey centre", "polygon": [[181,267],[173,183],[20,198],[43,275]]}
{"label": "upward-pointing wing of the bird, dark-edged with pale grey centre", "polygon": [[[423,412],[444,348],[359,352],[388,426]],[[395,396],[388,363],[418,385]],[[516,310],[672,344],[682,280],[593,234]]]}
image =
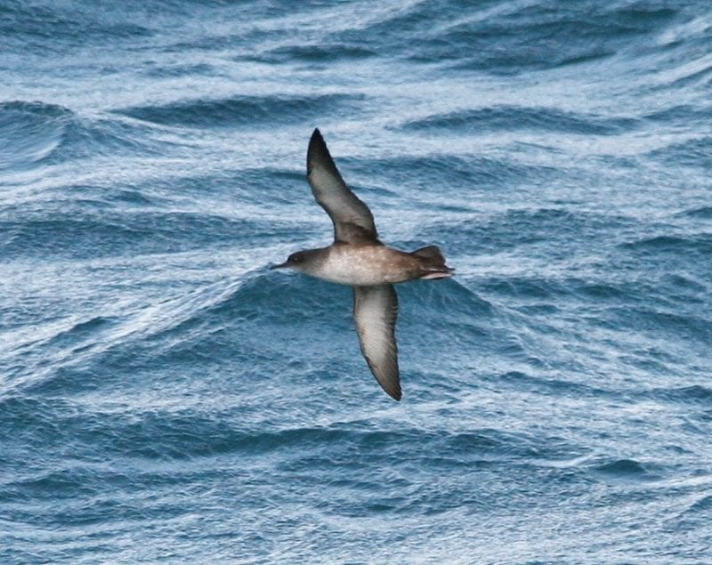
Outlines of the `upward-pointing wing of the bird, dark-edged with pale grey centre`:
{"label": "upward-pointing wing of the bird, dark-edged with pale grey centre", "polygon": [[309,140],[306,174],[314,198],[334,222],[336,241],[377,241],[373,214],[346,186],[318,129]]}

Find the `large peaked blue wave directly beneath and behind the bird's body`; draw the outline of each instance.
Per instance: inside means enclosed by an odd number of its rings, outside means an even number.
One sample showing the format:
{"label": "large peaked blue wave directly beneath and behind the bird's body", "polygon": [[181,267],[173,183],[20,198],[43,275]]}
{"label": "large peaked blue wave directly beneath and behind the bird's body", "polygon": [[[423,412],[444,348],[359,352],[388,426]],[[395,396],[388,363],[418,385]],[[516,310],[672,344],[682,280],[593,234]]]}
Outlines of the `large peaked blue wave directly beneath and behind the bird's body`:
{"label": "large peaked blue wave directly beneath and behind the bird's body", "polygon": [[[433,332],[466,327],[467,335],[473,335],[474,327],[479,327],[476,341],[485,346],[492,342],[487,327],[496,312],[457,281],[412,283],[399,287],[399,293],[404,331],[420,327],[426,317]],[[52,322],[38,335],[41,338],[18,346],[25,368],[4,383],[6,393],[57,394],[110,387],[111,382],[101,376],[108,367],[125,374],[130,367],[150,365],[159,370],[194,363],[214,365],[219,360],[233,374],[247,375],[256,359],[273,362],[278,358],[288,365],[295,359],[308,362],[304,351],[309,348],[330,351],[352,345],[353,359],[360,359],[350,288],[267,270],[134,306],[111,317]],[[304,335],[310,335],[308,348]],[[467,335],[463,339],[469,339]],[[295,367],[290,366],[290,371],[295,372]]]}

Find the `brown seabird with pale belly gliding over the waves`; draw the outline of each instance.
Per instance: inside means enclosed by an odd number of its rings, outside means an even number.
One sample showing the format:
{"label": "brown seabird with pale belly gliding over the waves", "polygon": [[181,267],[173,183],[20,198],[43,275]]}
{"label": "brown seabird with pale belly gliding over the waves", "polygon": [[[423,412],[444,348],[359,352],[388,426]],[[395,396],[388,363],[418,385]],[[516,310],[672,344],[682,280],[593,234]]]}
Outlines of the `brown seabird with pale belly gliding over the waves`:
{"label": "brown seabird with pale belly gliding over the waves", "polygon": [[395,325],[396,283],[417,278],[451,277],[437,246],[412,252],[384,246],[373,214],[344,182],[319,128],[312,133],[306,157],[312,195],[334,224],[334,243],[290,254],[271,269],[292,269],[353,288],[353,319],[360,350],[371,373],[393,400],[401,400],[401,376]]}

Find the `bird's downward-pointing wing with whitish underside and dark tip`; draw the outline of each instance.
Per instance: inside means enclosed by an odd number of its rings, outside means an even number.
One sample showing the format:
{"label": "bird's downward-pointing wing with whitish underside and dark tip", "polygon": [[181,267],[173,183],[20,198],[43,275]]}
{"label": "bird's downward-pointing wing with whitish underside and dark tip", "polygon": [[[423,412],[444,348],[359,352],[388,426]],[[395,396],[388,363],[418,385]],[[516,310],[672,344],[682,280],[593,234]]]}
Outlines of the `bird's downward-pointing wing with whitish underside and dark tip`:
{"label": "bird's downward-pointing wing with whitish underside and dark tip", "polygon": [[376,381],[392,398],[401,400],[395,320],[398,295],[392,285],[353,287],[353,319],[361,352]]}

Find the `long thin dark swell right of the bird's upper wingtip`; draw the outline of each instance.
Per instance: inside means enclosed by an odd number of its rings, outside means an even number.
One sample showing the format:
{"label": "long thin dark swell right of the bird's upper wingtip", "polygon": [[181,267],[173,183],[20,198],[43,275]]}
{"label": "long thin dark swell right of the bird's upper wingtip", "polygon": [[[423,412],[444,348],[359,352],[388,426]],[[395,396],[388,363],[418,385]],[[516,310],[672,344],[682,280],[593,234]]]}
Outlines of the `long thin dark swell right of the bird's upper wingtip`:
{"label": "long thin dark swell right of the bird's upper wingtip", "polygon": [[577,114],[553,108],[495,106],[466,109],[407,122],[406,130],[492,132],[542,131],[581,135],[615,135],[635,130],[638,122],[627,117]]}

